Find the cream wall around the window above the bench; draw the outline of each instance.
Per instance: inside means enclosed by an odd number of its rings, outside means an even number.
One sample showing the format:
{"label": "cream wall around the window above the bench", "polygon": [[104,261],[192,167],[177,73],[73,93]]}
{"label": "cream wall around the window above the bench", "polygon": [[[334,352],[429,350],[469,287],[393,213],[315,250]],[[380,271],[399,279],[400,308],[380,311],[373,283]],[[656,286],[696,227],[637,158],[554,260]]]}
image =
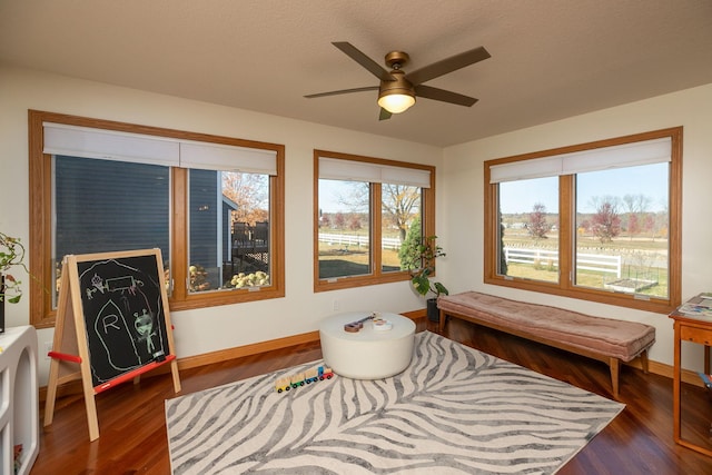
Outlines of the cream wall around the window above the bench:
{"label": "cream wall around the window above the bench", "polygon": [[[682,297],[712,290],[712,85],[445,149],[439,178],[439,244],[448,254],[438,274],[451,291],[479,290],[578,311],[642,321],[656,328],[653,360],[672,365],[673,327],[666,315],[483,284],[485,160],[683,126]],[[700,345],[683,346],[683,367],[702,369]]]}

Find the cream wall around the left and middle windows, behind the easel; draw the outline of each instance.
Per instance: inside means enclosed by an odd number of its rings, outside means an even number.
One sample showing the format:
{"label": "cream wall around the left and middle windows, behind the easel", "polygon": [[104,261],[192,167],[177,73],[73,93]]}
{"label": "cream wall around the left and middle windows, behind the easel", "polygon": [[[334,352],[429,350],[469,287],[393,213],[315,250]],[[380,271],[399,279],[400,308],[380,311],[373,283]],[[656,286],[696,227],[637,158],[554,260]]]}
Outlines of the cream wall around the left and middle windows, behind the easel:
{"label": "cream wall around the left and middle windows, behind the easel", "polygon": [[[424,307],[408,283],[314,294],[313,150],[439,165],[441,148],[217,105],[0,67],[0,229],[29,244],[28,109],[206,132],[286,146],[286,297],[171,314],[177,356],[313,331],[339,311]],[[442,182],[442,180],[438,179]],[[438,222],[442,222],[438,219]],[[24,278],[27,281],[27,277]],[[27,286],[26,286],[27,288]],[[27,297],[27,296],[26,296]],[[27,325],[28,299],[7,306],[7,325]],[[39,331],[40,353],[53,330]],[[44,384],[49,362],[40,357]]]}

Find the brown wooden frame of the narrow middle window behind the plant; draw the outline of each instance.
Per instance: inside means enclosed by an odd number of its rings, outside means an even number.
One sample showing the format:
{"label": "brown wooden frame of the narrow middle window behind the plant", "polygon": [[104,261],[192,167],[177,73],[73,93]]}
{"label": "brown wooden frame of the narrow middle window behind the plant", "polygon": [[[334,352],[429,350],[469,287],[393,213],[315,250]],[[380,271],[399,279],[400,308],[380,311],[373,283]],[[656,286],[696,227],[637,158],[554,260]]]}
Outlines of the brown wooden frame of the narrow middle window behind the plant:
{"label": "brown wooden frame of the narrow middle window behind the plant", "polygon": [[[422,198],[422,226],[424,236],[435,235],[435,167],[428,165],[411,164],[383,158],[364,157],[358,155],[342,154],[328,150],[314,150],[314,291],[339,290],[345,288],[363,287],[378,284],[411,280],[407,270],[387,271],[382,270],[382,201],[380,184],[372,182],[370,212],[370,268],[372,273],[359,276],[344,276],[333,279],[319,278],[319,157],[334,158],[339,160],[352,160],[366,164],[384,165],[388,167],[411,168],[427,170],[431,174],[431,187],[421,188]],[[378,243],[378,245],[374,245]]]}

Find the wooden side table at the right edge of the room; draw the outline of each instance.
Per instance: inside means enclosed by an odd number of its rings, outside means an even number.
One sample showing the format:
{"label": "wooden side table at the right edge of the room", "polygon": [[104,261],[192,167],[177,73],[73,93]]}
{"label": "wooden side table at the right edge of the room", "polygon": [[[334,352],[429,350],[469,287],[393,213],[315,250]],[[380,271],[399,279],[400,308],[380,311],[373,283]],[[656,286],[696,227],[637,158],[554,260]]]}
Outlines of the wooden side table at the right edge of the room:
{"label": "wooden side table at the right edge of the room", "polygon": [[[696,304],[702,297],[698,296],[689,300]],[[712,456],[712,451],[701,447],[692,442],[682,438],[682,417],[681,417],[681,349],[682,342],[692,342],[704,345],[704,373],[710,374],[710,346],[712,346],[712,318],[683,315],[676,310],[670,314],[670,318],[674,320],[675,346],[674,346],[674,370],[673,370],[673,437],[675,443],[700,452],[704,455]]]}

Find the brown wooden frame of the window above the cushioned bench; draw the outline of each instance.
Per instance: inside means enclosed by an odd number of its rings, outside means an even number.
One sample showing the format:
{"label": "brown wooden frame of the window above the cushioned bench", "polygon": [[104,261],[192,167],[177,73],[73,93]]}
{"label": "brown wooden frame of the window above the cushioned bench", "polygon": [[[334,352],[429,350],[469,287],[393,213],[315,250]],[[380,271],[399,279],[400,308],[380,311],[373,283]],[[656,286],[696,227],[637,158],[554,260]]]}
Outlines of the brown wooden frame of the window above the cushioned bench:
{"label": "brown wooden frame of the window above the cushioned bench", "polygon": [[[524,154],[513,157],[487,160],[484,162],[484,283],[522,290],[538,291],[562,297],[597,301],[640,310],[669,314],[682,301],[682,127],[635,133],[606,140],[599,140],[570,147]],[[491,184],[491,167],[523,160],[532,160],[554,155],[563,155],[596,148],[613,147],[635,141],[653,140],[657,138],[671,139],[670,189],[669,189],[669,294],[668,298],[644,298],[617,291],[600,290],[575,286],[572,281],[575,253],[575,191],[574,175],[558,178],[558,265],[561,278],[558,283],[546,283],[516,277],[503,276],[498,268],[498,210],[497,184]]]}

